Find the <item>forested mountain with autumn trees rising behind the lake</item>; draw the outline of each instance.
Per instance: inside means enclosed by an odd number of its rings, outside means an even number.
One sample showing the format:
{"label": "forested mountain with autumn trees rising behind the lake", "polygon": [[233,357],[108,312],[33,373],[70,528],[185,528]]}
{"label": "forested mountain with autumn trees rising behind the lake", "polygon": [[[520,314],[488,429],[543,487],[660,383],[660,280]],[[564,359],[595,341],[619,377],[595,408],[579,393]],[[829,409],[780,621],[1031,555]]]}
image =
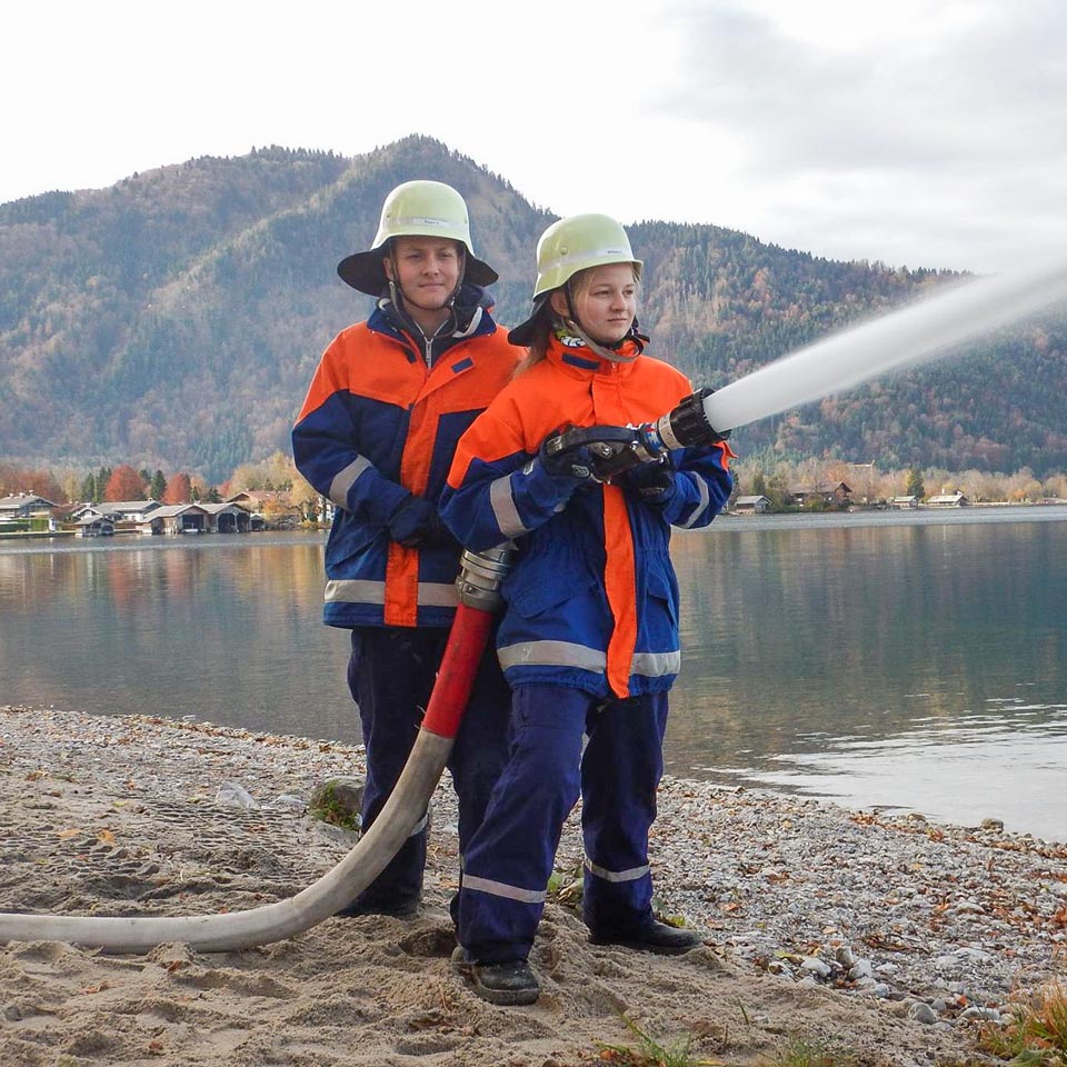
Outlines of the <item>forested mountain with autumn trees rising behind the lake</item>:
{"label": "forested mountain with autumn trees rising behind the lake", "polygon": [[[528,307],[554,216],[469,159],[410,137],[355,159],[269,148],[0,206],[0,457],[132,462],[209,481],[288,448],[323,347],[369,299],[335,267],[368,246],[386,193],[463,193],[497,317]],[[669,212],[669,205],[665,205]],[[652,352],[721,386],[948,275],[841,263],[714,226],[640,222]],[[1067,469],[1063,318],[966,359],[879,381],[736,432],[740,452],[885,467]]]}

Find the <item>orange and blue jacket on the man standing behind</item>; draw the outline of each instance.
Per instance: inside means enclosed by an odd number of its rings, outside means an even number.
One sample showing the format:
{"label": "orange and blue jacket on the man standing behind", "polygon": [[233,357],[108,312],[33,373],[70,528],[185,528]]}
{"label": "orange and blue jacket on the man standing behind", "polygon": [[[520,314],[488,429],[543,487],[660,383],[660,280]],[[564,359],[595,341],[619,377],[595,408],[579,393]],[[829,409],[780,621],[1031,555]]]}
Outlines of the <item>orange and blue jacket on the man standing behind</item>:
{"label": "orange and blue jacket on the man standing behind", "polygon": [[[463,287],[470,300],[468,290],[477,287]],[[483,306],[430,353],[390,312],[382,301],[333,339],[292,430],[297,469],[336,505],[326,546],[329,626],[451,622],[458,546],[406,548],[390,539],[387,521],[409,493],[437,501],[457,441],[522,355]]]}

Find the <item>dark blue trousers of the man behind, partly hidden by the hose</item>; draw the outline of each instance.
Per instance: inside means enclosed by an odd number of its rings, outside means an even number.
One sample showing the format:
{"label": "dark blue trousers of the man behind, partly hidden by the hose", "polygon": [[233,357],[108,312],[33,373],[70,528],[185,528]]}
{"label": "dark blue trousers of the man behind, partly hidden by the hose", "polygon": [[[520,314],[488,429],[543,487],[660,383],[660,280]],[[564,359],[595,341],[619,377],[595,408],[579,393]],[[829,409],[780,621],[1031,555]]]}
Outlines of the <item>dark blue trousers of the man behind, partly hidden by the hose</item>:
{"label": "dark blue trousers of the man behind, partly hidden by the hose", "polygon": [[[348,687],[359,705],[367,748],[365,829],[378,817],[408,761],[447,639],[448,631],[436,628],[352,630]],[[480,825],[503,768],[509,704],[510,690],[490,639],[448,761],[459,801],[460,854]],[[417,898],[422,889],[427,836],[423,821],[358,901],[391,907]]]}

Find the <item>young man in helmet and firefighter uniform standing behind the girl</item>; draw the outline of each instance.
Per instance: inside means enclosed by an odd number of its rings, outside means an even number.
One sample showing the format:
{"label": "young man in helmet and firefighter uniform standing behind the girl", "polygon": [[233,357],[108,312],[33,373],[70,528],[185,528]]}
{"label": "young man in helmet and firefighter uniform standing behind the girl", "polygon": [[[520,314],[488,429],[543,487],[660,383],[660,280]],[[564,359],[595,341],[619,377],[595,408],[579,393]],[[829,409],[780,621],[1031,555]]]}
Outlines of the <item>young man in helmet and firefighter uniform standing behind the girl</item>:
{"label": "young man in helmet and firefighter uniform standing behind the girl", "polygon": [[[292,431],[300,472],[336,506],[326,547],[327,625],[351,630],[348,684],[367,748],[373,822],[415,742],[456,610],[459,546],[437,500],[456,442],[522,352],[489,315],[497,280],[475,258],[467,206],[437,181],[389,193],[369,251],[338,273],[379,298],[327,348]],[[505,759],[507,685],[483,657],[449,767],[466,842]],[[426,819],[341,915],[416,914]]]}

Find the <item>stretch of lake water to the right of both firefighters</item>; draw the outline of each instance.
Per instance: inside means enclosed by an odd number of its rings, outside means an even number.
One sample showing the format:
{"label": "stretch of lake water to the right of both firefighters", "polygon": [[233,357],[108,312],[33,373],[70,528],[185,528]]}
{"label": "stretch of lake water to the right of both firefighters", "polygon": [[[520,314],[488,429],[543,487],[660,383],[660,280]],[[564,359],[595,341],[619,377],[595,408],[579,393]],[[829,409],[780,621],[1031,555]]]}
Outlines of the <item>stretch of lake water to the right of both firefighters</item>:
{"label": "stretch of lake water to the right of both firefighters", "polygon": [[[726,520],[677,538],[671,769],[704,756],[707,777],[953,821],[1007,819],[1006,794],[1050,787],[1067,770],[1067,527],[998,518],[761,534]],[[1067,838],[1067,801],[1046,799],[1017,825]]]}

